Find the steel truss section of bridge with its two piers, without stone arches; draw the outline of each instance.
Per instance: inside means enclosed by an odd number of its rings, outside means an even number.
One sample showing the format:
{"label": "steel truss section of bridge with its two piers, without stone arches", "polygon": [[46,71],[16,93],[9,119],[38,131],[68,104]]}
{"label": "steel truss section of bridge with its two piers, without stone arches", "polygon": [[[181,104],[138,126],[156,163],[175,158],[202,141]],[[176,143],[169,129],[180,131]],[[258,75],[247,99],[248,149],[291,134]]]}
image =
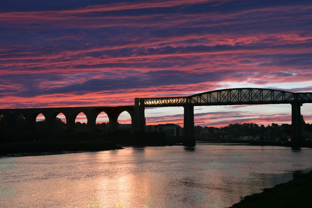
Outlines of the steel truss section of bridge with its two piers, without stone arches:
{"label": "steel truss section of bridge with its two piers, without stone arches", "polygon": [[303,103],[312,103],[312,92],[287,92],[263,88],[232,88],[202,92],[187,97],[136,98],[136,105],[145,107],[184,107],[184,144],[195,145],[194,106],[291,104],[292,141],[300,142]]}

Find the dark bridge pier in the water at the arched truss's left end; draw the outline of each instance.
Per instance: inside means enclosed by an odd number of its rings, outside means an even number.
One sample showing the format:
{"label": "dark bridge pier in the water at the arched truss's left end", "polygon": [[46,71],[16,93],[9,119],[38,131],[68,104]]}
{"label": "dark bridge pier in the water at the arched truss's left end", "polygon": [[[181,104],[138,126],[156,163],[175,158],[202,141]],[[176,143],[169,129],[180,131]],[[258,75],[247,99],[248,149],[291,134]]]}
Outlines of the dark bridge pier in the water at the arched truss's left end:
{"label": "dark bridge pier in the water at the arched truss's left end", "polygon": [[190,104],[184,105],[184,132],[183,145],[195,146],[194,137],[194,106]]}

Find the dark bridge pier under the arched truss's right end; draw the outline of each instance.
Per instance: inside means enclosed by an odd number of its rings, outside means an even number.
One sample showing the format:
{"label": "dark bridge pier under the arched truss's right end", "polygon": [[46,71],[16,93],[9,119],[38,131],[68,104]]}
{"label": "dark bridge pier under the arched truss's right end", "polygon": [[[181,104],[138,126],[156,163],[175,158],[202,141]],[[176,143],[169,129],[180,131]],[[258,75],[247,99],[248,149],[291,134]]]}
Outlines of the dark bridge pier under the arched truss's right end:
{"label": "dark bridge pier under the arched truss's right end", "polygon": [[301,138],[301,112],[299,102],[291,103],[291,143],[298,145],[302,142]]}

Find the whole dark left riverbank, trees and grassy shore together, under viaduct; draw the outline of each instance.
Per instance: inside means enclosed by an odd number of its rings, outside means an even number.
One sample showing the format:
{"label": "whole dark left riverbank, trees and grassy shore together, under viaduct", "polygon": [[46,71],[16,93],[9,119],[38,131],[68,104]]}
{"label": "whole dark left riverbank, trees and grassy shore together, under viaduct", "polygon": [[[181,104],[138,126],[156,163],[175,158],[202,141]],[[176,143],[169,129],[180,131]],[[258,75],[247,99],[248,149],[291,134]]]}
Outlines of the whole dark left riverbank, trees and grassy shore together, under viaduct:
{"label": "whole dark left riverbank, trees and grassy shore together, under viaduct", "polygon": [[[0,156],[7,154],[101,151],[123,149],[119,145],[168,145],[163,133],[110,132],[99,128],[15,128],[0,129]],[[119,145],[116,145],[119,144]]]}

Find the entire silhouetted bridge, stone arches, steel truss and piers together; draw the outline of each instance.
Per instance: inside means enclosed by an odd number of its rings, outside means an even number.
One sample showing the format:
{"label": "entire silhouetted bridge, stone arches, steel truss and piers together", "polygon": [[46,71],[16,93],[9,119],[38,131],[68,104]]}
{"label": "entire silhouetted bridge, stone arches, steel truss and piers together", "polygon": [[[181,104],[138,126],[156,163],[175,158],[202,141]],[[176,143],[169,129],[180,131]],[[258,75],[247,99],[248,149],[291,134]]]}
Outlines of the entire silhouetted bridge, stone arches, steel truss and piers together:
{"label": "entire silhouetted bridge, stone arches, steel truss and piers together", "polygon": [[19,116],[24,116],[28,127],[34,126],[37,116],[41,113],[46,125],[53,127],[56,116],[63,113],[66,127],[72,128],[76,116],[83,112],[87,117],[87,125],[95,128],[96,118],[105,112],[109,118],[110,130],[117,130],[117,120],[123,111],[131,116],[132,131],[145,130],[146,107],[184,107],[183,145],[195,145],[194,138],[194,106],[217,105],[254,105],[254,104],[291,104],[292,142],[298,143],[301,138],[301,112],[303,103],[312,103],[312,92],[287,92],[263,88],[232,88],[202,92],[186,97],[153,97],[134,98],[131,106],[91,106],[91,107],[51,107],[51,108],[19,108],[0,109],[7,126],[14,126]]}

